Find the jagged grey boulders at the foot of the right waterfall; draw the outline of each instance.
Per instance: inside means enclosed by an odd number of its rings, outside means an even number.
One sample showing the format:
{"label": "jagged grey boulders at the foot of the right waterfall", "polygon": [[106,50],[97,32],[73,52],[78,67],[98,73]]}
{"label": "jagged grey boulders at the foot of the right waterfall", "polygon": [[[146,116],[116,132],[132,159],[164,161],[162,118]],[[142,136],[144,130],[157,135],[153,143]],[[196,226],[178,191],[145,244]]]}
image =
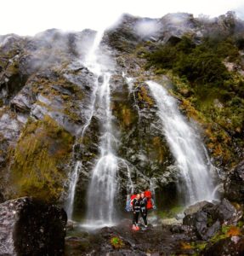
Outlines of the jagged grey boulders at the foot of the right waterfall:
{"label": "jagged grey boulders at the foot of the right waterfall", "polygon": [[200,202],[185,211],[188,213],[183,224],[196,230],[196,236],[202,240],[212,237],[221,227],[221,224],[236,224],[242,213],[237,212],[230,201],[223,199],[214,205],[209,202]]}

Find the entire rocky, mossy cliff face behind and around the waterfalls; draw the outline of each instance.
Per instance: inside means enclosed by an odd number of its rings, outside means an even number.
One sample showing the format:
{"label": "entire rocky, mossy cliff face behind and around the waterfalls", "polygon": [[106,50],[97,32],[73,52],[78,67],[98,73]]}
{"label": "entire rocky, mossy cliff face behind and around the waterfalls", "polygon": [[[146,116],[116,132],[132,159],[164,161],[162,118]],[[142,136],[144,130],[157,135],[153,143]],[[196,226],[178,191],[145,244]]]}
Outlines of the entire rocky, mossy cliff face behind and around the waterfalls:
{"label": "entire rocky, mossy cliff face behind and around the waterfalls", "polygon": [[[219,178],[218,173],[224,178],[241,160],[243,32],[243,22],[230,13],[214,20],[188,14],[157,20],[124,15],[105,31],[101,48],[109,52],[114,66],[111,110],[120,140],[116,154],[127,160],[119,169],[123,198],[129,165],[136,188],[152,183],[156,195],[163,193],[163,205],[169,198],[172,204],[179,201],[179,170],[156,118],[156,105],[145,84],[149,79],[164,84],[197,126],[219,169],[213,179]],[[224,44],[216,43],[216,38]],[[94,74],[82,61],[94,32],[48,30],[34,38],[8,35],[0,40],[1,197],[33,195],[65,201],[69,174],[76,160],[82,160],[75,206],[84,211],[92,166],[99,155],[99,116],[93,117],[81,137],[94,86]],[[210,49],[217,44],[218,55],[213,55]],[[211,73],[207,67],[223,68]]]}

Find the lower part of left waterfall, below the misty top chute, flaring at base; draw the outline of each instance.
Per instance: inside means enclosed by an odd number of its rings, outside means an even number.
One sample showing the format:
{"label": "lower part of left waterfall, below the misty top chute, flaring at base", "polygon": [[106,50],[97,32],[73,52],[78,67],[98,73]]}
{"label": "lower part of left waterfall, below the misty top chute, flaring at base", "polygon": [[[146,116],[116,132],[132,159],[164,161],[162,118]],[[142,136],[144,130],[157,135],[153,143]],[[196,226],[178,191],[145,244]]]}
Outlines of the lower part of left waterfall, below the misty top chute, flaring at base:
{"label": "lower part of left waterfall, below the misty top chute, flaring at base", "polygon": [[[90,225],[111,225],[115,221],[114,199],[116,195],[116,175],[118,162],[116,159],[116,137],[112,128],[111,113],[111,73],[101,73],[103,83],[99,87],[99,108],[102,135],[99,142],[99,160],[94,166],[92,179],[88,189],[88,216]],[[99,78],[98,78],[99,79]]]}

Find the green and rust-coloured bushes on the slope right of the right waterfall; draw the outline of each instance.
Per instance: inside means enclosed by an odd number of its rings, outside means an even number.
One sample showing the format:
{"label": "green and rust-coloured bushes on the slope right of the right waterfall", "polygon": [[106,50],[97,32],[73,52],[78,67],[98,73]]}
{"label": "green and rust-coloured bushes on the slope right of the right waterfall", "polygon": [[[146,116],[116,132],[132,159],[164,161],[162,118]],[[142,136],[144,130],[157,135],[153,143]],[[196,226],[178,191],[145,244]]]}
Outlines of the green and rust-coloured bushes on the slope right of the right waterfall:
{"label": "green and rust-coloured bushes on the slope right of the right waterfall", "polygon": [[243,148],[244,81],[241,38],[184,36],[147,53],[147,67],[173,80],[173,94],[189,118],[205,127],[207,146],[222,164],[235,164],[233,145]]}

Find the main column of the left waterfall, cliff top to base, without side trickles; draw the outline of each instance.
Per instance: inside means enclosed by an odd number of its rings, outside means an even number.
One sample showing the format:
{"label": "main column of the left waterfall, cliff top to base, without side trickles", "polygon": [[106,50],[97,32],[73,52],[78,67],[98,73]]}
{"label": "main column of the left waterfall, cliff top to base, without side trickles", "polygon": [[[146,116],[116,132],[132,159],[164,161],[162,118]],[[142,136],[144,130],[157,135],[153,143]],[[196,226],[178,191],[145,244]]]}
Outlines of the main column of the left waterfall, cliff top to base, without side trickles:
{"label": "main column of the left waterfall, cliff top to base, without side trickles", "polygon": [[[116,137],[112,127],[111,113],[111,72],[98,60],[98,49],[103,33],[98,33],[94,47],[88,56],[88,68],[96,77],[93,110],[89,121],[94,115],[95,102],[102,113],[99,117],[101,136],[99,138],[99,160],[97,160],[88,189],[87,226],[99,227],[115,222],[114,199],[116,195],[116,176],[118,160],[116,158]],[[101,59],[103,56],[101,56]],[[99,83],[102,81],[101,83]],[[89,123],[88,123],[89,125]],[[86,125],[86,126],[88,126]],[[86,129],[85,126],[85,129]]]}

